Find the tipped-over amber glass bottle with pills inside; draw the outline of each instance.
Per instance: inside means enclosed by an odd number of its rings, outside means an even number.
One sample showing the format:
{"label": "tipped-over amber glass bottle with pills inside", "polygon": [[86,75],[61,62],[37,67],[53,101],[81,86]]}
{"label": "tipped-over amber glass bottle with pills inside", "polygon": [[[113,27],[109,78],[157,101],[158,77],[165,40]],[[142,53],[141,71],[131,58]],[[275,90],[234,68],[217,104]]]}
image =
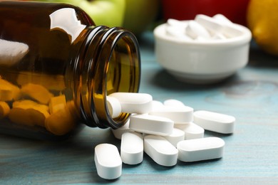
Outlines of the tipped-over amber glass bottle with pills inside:
{"label": "tipped-over amber glass bottle with pills inside", "polygon": [[138,92],[138,42],[69,4],[0,1],[0,133],[56,139],[122,126],[106,96]]}

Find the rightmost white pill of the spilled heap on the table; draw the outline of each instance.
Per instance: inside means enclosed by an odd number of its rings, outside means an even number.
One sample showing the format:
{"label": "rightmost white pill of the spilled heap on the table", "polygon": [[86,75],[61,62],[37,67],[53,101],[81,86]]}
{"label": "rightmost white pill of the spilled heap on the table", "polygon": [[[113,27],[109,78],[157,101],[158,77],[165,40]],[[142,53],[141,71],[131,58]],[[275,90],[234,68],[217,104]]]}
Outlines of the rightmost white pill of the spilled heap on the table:
{"label": "rightmost white pill of the spilled heap on the table", "polygon": [[235,117],[217,112],[198,110],[193,113],[195,124],[200,127],[222,134],[234,132]]}

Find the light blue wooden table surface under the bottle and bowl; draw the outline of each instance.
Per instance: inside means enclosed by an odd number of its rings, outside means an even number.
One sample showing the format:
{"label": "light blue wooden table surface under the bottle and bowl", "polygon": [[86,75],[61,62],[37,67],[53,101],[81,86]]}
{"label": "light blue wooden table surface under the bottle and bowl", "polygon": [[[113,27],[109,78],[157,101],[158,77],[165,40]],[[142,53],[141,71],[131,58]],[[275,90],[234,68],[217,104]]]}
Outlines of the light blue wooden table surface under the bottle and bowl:
{"label": "light blue wooden table surface under the bottle and bowl", "polygon": [[278,58],[252,44],[247,67],[236,75],[189,85],[158,65],[152,33],[140,39],[140,51],[141,93],[236,117],[234,134],[205,132],[225,140],[222,159],[165,167],[144,154],[141,164],[123,164],[122,176],[107,181],[96,174],[93,149],[104,142],[120,147],[110,129],[86,127],[63,142],[0,135],[0,184],[278,184]]}

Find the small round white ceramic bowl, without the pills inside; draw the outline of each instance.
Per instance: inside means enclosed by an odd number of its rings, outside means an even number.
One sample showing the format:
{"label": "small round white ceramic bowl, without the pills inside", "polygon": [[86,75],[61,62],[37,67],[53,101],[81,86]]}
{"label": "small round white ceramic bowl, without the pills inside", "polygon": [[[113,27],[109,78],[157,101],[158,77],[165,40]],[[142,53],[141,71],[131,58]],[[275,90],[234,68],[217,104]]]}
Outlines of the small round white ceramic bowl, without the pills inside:
{"label": "small round white ceramic bowl, without the pills inside", "polygon": [[249,60],[252,34],[237,25],[242,35],[210,41],[185,41],[169,36],[166,23],[154,30],[155,55],[158,63],[179,80],[189,83],[216,83],[240,68]]}

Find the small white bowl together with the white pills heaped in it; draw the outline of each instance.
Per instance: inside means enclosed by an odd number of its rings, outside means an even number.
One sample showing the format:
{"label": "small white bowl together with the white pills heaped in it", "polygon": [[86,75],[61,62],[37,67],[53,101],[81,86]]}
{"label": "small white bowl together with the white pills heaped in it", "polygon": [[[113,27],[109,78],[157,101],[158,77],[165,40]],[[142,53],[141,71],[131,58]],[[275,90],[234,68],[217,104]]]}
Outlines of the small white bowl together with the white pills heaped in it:
{"label": "small white bowl together with the white pills heaped in it", "polygon": [[222,14],[168,19],[154,31],[158,63],[178,80],[217,83],[244,68],[252,33]]}

